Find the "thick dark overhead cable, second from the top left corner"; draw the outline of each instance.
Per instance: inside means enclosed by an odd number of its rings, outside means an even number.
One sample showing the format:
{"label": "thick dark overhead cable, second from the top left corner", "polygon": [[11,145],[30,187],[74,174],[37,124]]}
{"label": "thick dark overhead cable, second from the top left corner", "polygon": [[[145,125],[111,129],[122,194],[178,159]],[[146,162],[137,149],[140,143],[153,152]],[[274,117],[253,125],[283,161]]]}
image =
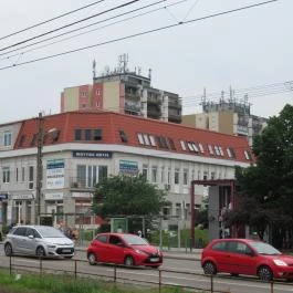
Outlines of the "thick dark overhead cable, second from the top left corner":
{"label": "thick dark overhead cable, second from the top left corner", "polygon": [[87,18],[84,18],[84,19],[81,19],[81,20],[77,20],[77,21],[71,22],[71,23],[65,24],[65,25],[63,25],[63,27],[56,28],[56,29],[54,29],[54,30],[51,30],[51,31],[48,31],[48,32],[44,32],[44,33],[41,33],[41,34],[34,35],[34,36],[32,36],[32,38],[30,38],[30,39],[27,39],[27,40],[20,41],[20,42],[18,42],[18,43],[14,43],[14,44],[8,45],[8,46],[6,46],[6,48],[1,48],[0,51],[4,51],[4,50],[7,50],[7,49],[10,49],[10,48],[13,48],[13,46],[17,46],[17,45],[20,45],[20,44],[27,43],[27,42],[29,42],[29,41],[32,41],[32,40],[35,40],[35,39],[38,39],[38,38],[41,38],[41,36],[48,35],[48,34],[50,34],[50,33],[53,33],[53,32],[56,32],[56,31],[60,31],[60,30],[64,30],[64,29],[66,29],[66,28],[70,28],[70,27],[72,27],[72,25],[75,25],[75,24],[77,24],[77,23],[81,23],[81,22],[87,21],[87,20],[90,20],[90,19],[93,19],[93,18],[96,18],[96,17],[100,17],[100,15],[105,14],[105,13],[107,13],[107,12],[111,12],[111,11],[114,11],[114,10],[117,10],[117,9],[121,9],[121,8],[124,8],[124,7],[127,7],[127,6],[129,6],[129,4],[133,4],[133,3],[135,3],[135,2],[139,2],[139,1],[142,1],[142,0],[133,0],[133,1],[129,1],[129,2],[126,2],[126,3],[123,3],[123,4],[121,4],[121,6],[117,6],[117,7],[114,7],[114,8],[107,9],[107,10],[105,10],[105,11],[103,11],[103,12],[95,13],[95,14],[93,14],[93,15],[91,15],[91,17],[87,17]]}

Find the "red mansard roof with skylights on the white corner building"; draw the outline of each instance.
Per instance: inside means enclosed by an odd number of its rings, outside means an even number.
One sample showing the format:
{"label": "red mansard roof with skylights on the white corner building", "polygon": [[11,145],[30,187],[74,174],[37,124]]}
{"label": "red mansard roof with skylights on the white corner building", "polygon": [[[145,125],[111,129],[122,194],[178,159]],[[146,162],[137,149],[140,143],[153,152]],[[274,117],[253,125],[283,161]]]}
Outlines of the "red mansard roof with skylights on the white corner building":
{"label": "red mansard roof with skylights on the white corner building", "polygon": [[[227,148],[231,147],[236,153],[237,160],[245,163],[248,163],[249,160],[244,156],[244,150],[251,151],[248,140],[244,137],[220,134],[180,124],[165,123],[156,119],[124,115],[114,112],[77,111],[44,116],[42,121],[42,128],[44,129],[44,132],[49,132],[52,128],[55,128],[60,132],[59,139],[54,142],[54,144],[115,144],[150,149],[161,149],[164,151],[192,154],[192,151],[190,151],[188,147],[187,150],[182,150],[180,140],[185,140],[193,142],[196,144],[200,143],[203,146],[205,153],[199,151],[198,154],[193,153],[193,155],[231,159],[227,154]],[[102,140],[75,140],[75,129],[97,128],[102,129]],[[124,130],[124,133],[126,134],[128,138],[127,143],[122,142],[119,130]],[[35,135],[36,133],[38,118],[23,121],[18,139],[14,145],[14,149],[33,147],[31,145],[31,142],[33,135]],[[158,146],[158,144],[155,147],[142,145],[138,142],[138,133],[171,138],[174,140],[176,150],[170,148],[163,149]],[[20,145],[22,136],[25,136],[25,139],[23,140],[23,144]],[[52,144],[52,139],[44,139],[44,145],[50,144]],[[220,146],[223,149],[224,156],[217,156],[216,154],[211,155],[209,153],[208,145]]]}

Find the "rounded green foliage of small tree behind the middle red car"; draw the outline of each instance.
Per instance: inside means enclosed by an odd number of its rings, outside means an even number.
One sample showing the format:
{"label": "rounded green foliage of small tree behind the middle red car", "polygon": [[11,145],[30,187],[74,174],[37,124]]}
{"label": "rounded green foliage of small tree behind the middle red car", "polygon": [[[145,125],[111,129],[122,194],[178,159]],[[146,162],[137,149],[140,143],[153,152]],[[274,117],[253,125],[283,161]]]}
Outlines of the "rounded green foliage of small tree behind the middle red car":
{"label": "rounded green foliage of small tree behind the middle red car", "polygon": [[102,218],[158,214],[165,192],[147,182],[143,175],[113,176],[96,185],[93,210]]}

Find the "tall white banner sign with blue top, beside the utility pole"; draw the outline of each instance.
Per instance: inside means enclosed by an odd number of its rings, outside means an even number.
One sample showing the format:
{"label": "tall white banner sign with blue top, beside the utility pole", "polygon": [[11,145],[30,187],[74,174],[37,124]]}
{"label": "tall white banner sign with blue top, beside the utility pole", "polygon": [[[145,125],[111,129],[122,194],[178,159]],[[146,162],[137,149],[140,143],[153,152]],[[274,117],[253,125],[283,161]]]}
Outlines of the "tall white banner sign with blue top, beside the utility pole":
{"label": "tall white banner sign with blue top, beside the utility pole", "polygon": [[64,188],[64,159],[49,159],[46,161],[46,188]]}

